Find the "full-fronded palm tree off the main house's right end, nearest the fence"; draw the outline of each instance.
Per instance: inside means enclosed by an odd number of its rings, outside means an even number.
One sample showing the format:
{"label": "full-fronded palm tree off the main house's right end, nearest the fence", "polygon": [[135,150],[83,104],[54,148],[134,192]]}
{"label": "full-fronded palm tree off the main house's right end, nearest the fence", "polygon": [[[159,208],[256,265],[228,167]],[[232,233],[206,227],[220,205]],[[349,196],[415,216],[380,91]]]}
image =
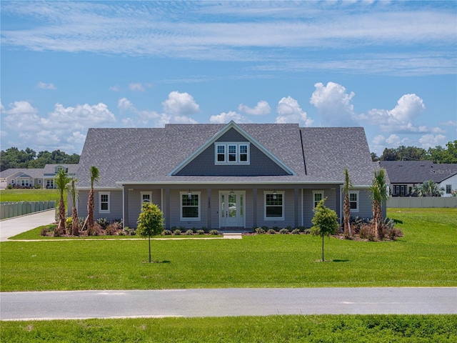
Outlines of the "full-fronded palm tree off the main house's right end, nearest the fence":
{"label": "full-fronded palm tree off the main house's right end, nearest the fence", "polygon": [[376,239],[379,239],[383,224],[382,204],[388,199],[386,172],[384,169],[374,171],[370,191],[373,199],[373,234]]}

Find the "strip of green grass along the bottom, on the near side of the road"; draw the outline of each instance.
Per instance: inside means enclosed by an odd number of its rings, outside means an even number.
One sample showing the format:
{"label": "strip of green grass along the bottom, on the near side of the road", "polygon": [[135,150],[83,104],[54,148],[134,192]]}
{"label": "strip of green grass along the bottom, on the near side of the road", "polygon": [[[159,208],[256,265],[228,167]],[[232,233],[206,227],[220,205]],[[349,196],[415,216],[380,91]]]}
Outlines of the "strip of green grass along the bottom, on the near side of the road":
{"label": "strip of green grass along the bottom, on the near side of the road", "polygon": [[1,342],[456,342],[455,315],[312,315],[0,322]]}

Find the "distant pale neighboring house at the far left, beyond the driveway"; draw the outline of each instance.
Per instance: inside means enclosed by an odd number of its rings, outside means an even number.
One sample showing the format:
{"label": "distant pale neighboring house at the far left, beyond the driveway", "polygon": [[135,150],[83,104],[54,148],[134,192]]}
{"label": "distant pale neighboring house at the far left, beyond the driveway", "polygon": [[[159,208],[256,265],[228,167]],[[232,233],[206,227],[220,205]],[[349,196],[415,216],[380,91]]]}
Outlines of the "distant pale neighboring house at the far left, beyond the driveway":
{"label": "distant pale neighboring house at the far left, beyond the driveway", "polygon": [[54,177],[60,168],[65,168],[70,177],[78,169],[78,164],[46,164],[43,169],[6,169],[0,172],[0,189],[6,189],[9,184],[13,187],[32,188],[39,185],[42,188],[54,188]]}

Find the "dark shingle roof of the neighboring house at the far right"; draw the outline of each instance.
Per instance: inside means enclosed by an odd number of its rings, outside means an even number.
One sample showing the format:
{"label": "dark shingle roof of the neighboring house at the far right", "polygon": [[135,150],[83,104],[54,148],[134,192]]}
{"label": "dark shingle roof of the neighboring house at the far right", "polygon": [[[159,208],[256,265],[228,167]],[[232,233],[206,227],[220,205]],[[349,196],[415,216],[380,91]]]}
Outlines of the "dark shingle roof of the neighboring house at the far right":
{"label": "dark shingle roof of the neighboring house at the far right", "polygon": [[457,174],[457,164],[434,164],[433,161],[381,161],[392,184],[442,182]]}

